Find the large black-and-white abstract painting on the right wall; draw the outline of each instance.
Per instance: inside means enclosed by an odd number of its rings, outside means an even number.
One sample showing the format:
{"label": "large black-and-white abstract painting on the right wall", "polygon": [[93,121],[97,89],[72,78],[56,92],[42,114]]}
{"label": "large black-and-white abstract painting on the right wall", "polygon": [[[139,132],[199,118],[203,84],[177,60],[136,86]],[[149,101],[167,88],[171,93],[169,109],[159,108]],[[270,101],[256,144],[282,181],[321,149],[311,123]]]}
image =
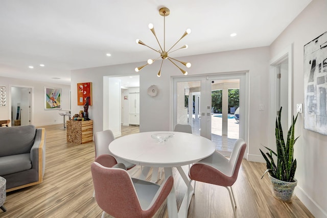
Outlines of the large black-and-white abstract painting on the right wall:
{"label": "large black-and-white abstract painting on the right wall", "polygon": [[304,46],[304,127],[327,135],[327,32]]}

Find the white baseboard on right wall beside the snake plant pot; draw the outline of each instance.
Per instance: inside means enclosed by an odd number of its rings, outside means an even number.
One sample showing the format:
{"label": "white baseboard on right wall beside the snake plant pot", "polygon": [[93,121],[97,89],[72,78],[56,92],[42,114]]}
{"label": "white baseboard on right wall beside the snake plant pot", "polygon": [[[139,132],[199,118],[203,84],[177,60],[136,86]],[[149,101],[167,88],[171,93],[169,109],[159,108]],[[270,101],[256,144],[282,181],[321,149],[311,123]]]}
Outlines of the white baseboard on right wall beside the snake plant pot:
{"label": "white baseboard on right wall beside the snake plant pot", "polygon": [[313,199],[311,199],[300,186],[294,189],[296,197],[308,208],[308,210],[317,218],[327,218],[327,212],[324,211]]}

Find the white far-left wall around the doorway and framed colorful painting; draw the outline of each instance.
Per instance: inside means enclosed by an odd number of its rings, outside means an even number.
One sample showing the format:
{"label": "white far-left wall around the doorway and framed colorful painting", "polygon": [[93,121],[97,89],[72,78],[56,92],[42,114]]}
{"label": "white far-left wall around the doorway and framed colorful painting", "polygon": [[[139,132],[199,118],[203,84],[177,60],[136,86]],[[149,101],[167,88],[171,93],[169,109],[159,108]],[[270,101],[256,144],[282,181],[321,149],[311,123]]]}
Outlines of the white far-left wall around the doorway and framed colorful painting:
{"label": "white far-left wall around the doorway and framed colorful painting", "polygon": [[44,110],[44,86],[61,88],[61,107],[62,109],[69,109],[69,90],[71,86],[61,85],[55,83],[38,82],[33,80],[21,80],[16,78],[0,77],[0,84],[7,87],[8,104],[6,107],[0,107],[0,119],[11,119],[11,86],[33,87],[32,88],[32,125],[46,126],[63,123],[62,116],[59,115],[58,110]]}

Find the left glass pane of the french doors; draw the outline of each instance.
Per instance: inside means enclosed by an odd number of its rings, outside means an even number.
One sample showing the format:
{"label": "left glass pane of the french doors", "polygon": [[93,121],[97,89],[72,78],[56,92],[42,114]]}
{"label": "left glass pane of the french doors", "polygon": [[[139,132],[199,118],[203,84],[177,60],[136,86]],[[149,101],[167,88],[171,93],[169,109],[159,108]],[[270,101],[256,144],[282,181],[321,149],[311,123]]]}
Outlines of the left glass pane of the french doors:
{"label": "left glass pane of the french doors", "polygon": [[200,135],[200,81],[177,82],[177,124],[189,124]]}

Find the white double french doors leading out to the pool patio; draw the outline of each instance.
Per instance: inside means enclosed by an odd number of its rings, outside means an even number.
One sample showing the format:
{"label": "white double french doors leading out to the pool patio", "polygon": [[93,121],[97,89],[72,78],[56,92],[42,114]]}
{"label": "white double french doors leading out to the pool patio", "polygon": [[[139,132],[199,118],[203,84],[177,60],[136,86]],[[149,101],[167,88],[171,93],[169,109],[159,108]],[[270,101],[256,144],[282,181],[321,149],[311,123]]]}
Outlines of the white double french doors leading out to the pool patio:
{"label": "white double french doors leading out to the pool patio", "polygon": [[[247,140],[247,73],[213,74],[175,77],[172,80],[172,126],[190,124],[193,134],[211,139],[216,149],[230,155],[237,138]],[[228,105],[228,90],[239,89],[239,117],[233,113],[237,108]],[[212,101],[213,92],[222,92],[222,107]]]}

